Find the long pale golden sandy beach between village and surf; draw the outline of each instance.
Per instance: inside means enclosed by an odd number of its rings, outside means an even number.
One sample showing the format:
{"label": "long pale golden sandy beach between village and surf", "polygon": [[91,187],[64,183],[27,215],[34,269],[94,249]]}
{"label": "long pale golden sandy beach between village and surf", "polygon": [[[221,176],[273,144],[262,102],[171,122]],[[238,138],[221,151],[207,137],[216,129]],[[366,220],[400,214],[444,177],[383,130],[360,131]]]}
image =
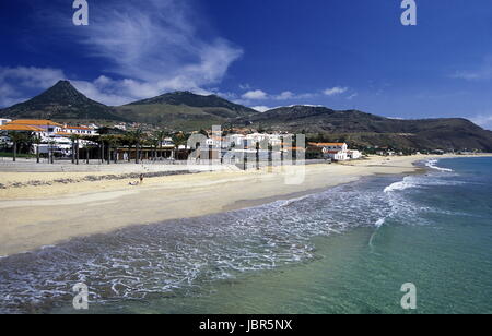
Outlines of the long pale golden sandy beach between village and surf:
{"label": "long pale golden sandy beach between village and surf", "polygon": [[[441,156],[443,158],[446,156]],[[447,156],[449,157],[449,156]],[[1,172],[0,256],[32,251],[73,237],[132,225],[197,217],[297,197],[362,177],[414,173],[430,156],[371,157],[344,164],[274,168],[273,171],[214,171],[134,179],[84,181],[103,172]],[[115,166],[116,169],[116,166]],[[303,173],[302,183],[285,179]],[[104,172],[106,173],[106,172]],[[81,180],[60,183],[60,179]],[[45,185],[24,185],[44,181]],[[16,185],[16,187],[15,187]]]}

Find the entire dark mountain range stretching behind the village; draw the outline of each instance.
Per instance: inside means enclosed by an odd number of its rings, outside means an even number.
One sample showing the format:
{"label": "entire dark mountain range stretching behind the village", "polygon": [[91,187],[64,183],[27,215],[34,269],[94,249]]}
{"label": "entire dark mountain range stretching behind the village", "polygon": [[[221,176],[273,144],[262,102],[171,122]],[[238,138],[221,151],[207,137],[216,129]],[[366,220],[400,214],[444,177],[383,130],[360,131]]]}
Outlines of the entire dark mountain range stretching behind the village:
{"label": "entire dark mountain range stretching behind the village", "polygon": [[0,110],[0,117],[103,124],[127,121],[180,131],[198,131],[219,124],[305,133],[312,140],[347,141],[351,146],[360,147],[492,152],[492,132],[466,119],[399,120],[321,106],[290,106],[260,113],[216,95],[201,96],[190,92],[168,93],[108,107],[89,99],[67,81],[58,82],[31,100]]}

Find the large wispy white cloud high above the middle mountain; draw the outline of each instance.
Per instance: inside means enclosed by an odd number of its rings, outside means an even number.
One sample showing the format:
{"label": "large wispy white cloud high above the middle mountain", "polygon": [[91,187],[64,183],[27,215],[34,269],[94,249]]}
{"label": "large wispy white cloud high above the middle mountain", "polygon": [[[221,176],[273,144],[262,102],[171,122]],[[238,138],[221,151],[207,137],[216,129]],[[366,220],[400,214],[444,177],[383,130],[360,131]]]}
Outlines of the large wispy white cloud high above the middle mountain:
{"label": "large wispy white cloud high above the middle mountain", "polygon": [[[143,3],[142,3],[143,2]],[[104,2],[93,11],[82,43],[112,63],[108,71],[160,92],[197,91],[219,83],[243,50],[202,33],[189,1]]]}

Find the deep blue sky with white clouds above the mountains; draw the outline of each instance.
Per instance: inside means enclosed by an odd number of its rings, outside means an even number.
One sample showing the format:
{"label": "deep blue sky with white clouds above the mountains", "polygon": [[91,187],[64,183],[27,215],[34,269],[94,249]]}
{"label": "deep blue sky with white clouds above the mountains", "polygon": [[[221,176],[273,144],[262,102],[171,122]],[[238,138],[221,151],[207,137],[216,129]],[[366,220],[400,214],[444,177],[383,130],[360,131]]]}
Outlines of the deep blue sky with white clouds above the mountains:
{"label": "deep blue sky with white clouds above the mountains", "polygon": [[59,80],[122,105],[173,91],[260,111],[290,105],[492,129],[492,2],[415,0],[0,1],[0,107]]}

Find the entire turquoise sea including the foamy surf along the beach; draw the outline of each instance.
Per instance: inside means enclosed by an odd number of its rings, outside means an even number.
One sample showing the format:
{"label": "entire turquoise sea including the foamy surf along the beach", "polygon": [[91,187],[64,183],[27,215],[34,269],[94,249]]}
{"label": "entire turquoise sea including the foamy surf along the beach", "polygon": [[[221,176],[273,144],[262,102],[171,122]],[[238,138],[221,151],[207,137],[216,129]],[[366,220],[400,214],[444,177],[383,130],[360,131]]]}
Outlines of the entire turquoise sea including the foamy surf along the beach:
{"label": "entire turquoise sea including the foamy surf along the beach", "polygon": [[77,313],[83,281],[89,313],[492,313],[492,159],[426,165],[0,260],[0,311]]}

